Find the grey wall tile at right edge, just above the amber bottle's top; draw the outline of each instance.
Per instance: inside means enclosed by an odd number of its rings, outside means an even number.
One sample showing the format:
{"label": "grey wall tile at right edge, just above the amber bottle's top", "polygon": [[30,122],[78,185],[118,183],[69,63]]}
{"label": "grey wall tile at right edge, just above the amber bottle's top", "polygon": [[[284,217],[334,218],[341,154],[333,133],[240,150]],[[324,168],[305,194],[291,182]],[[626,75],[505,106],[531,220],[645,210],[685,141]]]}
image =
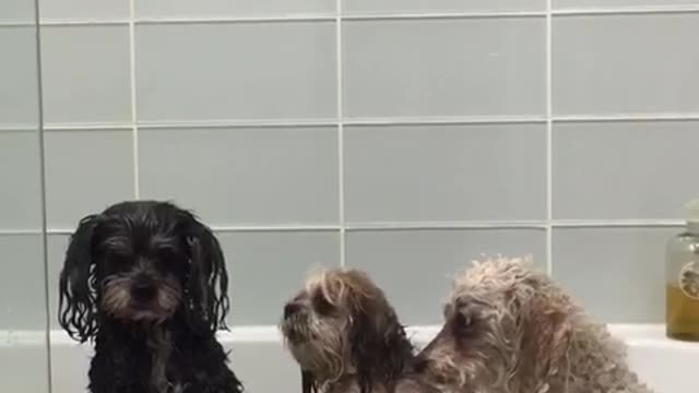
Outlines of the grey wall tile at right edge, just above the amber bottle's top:
{"label": "grey wall tile at right edge, just above the amber bottle's top", "polygon": [[685,203],[699,196],[698,127],[696,121],[556,124],[555,217],[684,217]]}

